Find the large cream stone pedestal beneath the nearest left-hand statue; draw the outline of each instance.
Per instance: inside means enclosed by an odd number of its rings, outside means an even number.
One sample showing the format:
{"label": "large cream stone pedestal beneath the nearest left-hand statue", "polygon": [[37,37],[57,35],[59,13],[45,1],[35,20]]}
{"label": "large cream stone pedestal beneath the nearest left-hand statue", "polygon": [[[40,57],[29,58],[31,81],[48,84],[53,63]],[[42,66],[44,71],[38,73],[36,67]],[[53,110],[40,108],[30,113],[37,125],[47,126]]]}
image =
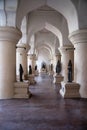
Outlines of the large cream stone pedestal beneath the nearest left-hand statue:
{"label": "large cream stone pedestal beneath the nearest left-hand statue", "polygon": [[14,98],[29,98],[29,82],[15,82],[14,83]]}

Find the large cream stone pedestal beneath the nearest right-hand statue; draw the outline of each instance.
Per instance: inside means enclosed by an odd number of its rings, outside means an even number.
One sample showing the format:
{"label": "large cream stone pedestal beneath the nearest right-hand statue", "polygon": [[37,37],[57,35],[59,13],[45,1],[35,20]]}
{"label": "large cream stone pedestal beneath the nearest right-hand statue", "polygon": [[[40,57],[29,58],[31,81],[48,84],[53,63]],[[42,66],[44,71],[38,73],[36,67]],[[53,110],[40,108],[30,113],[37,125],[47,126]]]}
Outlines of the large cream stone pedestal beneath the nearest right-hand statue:
{"label": "large cream stone pedestal beneath the nearest right-hand statue", "polygon": [[60,94],[63,98],[80,98],[80,85],[78,83],[61,83]]}

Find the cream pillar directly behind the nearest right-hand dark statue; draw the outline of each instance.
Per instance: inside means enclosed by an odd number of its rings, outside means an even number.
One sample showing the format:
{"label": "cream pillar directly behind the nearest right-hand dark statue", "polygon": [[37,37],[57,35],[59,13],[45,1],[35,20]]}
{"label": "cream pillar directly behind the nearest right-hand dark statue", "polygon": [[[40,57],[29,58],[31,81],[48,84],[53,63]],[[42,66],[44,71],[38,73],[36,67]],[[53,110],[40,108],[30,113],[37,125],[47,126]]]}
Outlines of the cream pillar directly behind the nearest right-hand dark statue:
{"label": "cream pillar directly behind the nearest right-hand dark statue", "polygon": [[[68,81],[68,63],[72,61],[72,70],[74,72],[74,48],[72,46],[65,46],[59,48],[61,52],[61,64],[62,64],[62,76],[64,76],[64,82]],[[72,75],[73,75],[72,72]],[[72,76],[73,77],[73,76]]]}

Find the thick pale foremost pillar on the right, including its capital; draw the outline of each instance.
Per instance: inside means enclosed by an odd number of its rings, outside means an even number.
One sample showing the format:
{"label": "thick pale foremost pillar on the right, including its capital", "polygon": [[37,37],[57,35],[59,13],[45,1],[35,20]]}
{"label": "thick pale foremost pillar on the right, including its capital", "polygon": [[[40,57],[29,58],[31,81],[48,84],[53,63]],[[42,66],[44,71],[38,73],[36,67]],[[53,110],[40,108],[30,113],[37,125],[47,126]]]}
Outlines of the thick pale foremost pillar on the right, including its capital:
{"label": "thick pale foremost pillar on the right, including its capital", "polygon": [[69,35],[75,47],[74,80],[81,85],[80,95],[87,98],[87,29]]}

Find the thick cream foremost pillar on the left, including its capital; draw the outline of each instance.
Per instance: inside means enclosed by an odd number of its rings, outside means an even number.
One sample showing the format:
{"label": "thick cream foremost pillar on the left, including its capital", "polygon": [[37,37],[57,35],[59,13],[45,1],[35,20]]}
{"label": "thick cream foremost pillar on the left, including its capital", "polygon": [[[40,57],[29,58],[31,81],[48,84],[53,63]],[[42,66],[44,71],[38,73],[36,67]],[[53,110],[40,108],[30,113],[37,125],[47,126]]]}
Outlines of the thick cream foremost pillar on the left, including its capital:
{"label": "thick cream foremost pillar on the left, including its capital", "polygon": [[21,32],[14,27],[0,27],[0,99],[13,97],[16,81],[16,44]]}

